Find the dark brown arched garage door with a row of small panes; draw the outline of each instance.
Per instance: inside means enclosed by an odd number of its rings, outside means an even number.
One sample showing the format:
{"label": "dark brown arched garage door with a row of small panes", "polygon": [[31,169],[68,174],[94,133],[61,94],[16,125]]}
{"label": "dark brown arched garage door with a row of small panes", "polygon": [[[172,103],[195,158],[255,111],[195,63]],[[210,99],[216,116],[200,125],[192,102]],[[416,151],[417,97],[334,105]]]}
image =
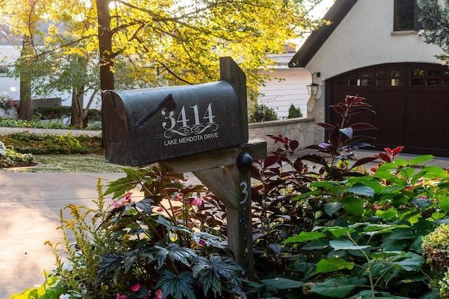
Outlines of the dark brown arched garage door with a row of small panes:
{"label": "dark brown arched garage door with a row of small panes", "polygon": [[[326,106],[346,95],[365,97],[376,114],[356,116],[375,125],[377,149],[406,146],[404,152],[449,157],[449,69],[438,64],[381,64],[326,81]],[[326,122],[340,123],[333,109]]]}

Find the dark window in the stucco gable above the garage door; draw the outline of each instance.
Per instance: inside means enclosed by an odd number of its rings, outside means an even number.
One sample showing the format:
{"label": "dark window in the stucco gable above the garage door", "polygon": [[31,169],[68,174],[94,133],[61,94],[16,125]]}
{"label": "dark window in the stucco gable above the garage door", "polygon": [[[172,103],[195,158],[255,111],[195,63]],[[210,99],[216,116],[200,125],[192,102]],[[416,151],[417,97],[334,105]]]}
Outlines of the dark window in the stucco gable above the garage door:
{"label": "dark window in the stucco gable above the garage door", "polygon": [[423,29],[419,14],[417,0],[394,0],[394,31]]}

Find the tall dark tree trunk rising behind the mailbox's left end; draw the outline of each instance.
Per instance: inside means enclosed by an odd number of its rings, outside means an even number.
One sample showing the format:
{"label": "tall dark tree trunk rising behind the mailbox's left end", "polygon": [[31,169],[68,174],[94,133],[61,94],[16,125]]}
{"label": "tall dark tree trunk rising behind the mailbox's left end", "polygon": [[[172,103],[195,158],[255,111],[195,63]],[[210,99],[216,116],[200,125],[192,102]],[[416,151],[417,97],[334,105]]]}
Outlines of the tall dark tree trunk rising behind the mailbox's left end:
{"label": "tall dark tree trunk rising behind the mailbox's left end", "polygon": [[98,43],[100,52],[100,90],[114,89],[114,55],[112,53],[110,0],[96,0],[98,14]]}

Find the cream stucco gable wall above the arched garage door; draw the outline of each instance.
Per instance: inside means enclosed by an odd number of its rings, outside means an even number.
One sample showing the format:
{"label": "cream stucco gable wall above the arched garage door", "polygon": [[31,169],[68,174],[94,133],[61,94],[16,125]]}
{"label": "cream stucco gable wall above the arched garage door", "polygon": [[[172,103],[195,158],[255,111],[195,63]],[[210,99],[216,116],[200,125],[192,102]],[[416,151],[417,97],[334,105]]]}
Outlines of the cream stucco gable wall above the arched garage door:
{"label": "cream stucco gable wall above the arched garage door", "polygon": [[[441,64],[438,46],[424,43],[420,32],[393,32],[393,0],[358,0],[306,69],[321,81],[346,71],[390,62]],[[319,82],[316,82],[319,83]]]}

